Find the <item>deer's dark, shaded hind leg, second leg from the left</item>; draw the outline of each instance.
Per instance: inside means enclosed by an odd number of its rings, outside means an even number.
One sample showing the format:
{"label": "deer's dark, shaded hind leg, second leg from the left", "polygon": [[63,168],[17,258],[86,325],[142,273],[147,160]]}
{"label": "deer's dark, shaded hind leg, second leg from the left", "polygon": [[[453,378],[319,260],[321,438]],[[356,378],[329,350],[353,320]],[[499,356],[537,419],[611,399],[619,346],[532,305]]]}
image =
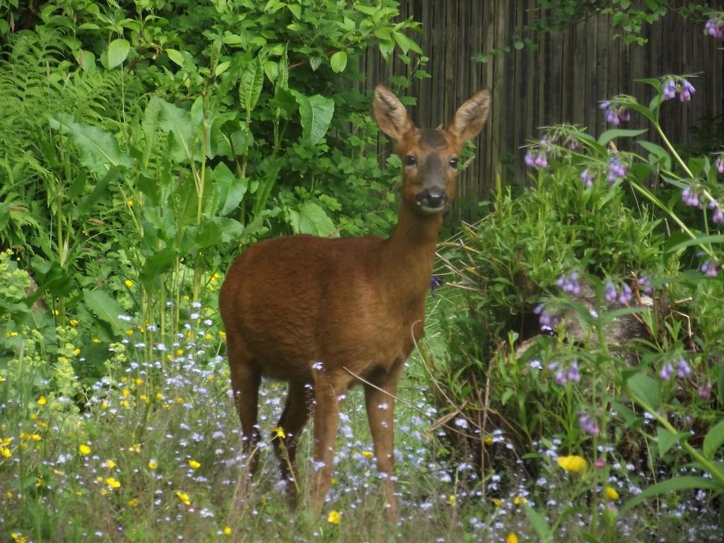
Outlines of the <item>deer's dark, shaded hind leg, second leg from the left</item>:
{"label": "deer's dark, shaded hind leg, second leg from the left", "polygon": [[282,479],[287,481],[287,492],[292,507],[296,507],[299,494],[296,464],[297,445],[299,434],[309,418],[310,408],[311,390],[308,389],[308,385],[304,382],[290,382],[287,403],[282,418],[279,418],[279,428],[282,429],[282,432],[277,430],[272,434],[272,443],[274,444],[274,454],[279,460]]}

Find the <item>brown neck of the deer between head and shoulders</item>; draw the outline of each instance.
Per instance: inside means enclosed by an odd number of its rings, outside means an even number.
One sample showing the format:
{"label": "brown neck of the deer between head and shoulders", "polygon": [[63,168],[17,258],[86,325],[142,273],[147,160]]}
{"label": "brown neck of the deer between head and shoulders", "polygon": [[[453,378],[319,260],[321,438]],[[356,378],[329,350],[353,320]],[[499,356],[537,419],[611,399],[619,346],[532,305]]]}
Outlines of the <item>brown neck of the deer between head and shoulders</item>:
{"label": "brown neck of the deer between head and shoulders", "polygon": [[392,287],[396,297],[424,297],[441,226],[442,214],[422,214],[405,201],[400,204],[397,225],[384,243],[380,263],[385,284]]}

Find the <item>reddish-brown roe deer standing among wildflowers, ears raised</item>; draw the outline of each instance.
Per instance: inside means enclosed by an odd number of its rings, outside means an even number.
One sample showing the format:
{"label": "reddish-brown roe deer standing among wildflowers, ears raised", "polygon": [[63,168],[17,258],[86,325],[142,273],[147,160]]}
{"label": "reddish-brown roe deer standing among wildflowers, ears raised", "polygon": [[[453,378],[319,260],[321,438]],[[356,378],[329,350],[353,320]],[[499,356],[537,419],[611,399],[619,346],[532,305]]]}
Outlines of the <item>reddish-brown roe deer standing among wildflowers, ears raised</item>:
{"label": "reddish-brown roe deer standing among wildflowers, ears raised", "polygon": [[387,514],[397,518],[393,407],[397,380],[423,333],[442,211],[455,195],[458,153],[487,118],[489,93],[460,106],[444,130],[418,130],[390,90],[374,90],[374,119],[403,161],[397,226],[376,236],[295,235],[263,240],[230,267],[219,293],[244,447],[259,439],[261,376],[289,384],[274,451],[297,500],[295,452],[314,406],[311,506],[321,511],[332,477],[340,396],[361,376]]}

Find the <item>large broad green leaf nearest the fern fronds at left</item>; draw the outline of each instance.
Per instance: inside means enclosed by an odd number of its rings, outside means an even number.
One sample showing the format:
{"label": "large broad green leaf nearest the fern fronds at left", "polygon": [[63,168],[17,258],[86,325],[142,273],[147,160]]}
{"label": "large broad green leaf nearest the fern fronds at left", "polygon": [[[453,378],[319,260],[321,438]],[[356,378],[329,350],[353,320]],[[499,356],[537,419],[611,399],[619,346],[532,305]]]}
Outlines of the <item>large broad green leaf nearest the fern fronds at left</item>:
{"label": "large broad green leaf nearest the fern fronds at left", "polygon": [[70,115],[49,115],[51,128],[70,134],[80,149],[80,162],[98,177],[104,177],[112,167],[133,167],[127,153],[120,150],[116,138],[105,130],[75,122]]}

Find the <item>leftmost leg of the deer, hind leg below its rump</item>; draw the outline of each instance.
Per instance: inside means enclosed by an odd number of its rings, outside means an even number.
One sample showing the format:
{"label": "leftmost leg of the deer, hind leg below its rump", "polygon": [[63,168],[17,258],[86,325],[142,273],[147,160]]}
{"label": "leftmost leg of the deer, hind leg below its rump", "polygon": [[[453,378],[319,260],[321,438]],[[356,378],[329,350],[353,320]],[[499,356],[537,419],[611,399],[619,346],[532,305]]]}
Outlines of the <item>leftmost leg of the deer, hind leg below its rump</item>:
{"label": "leftmost leg of the deer, hind leg below its rump", "polygon": [[239,337],[227,336],[227,352],[234,403],[241,420],[243,451],[249,463],[249,473],[253,475],[258,465],[256,446],[260,437],[257,416],[261,372]]}

